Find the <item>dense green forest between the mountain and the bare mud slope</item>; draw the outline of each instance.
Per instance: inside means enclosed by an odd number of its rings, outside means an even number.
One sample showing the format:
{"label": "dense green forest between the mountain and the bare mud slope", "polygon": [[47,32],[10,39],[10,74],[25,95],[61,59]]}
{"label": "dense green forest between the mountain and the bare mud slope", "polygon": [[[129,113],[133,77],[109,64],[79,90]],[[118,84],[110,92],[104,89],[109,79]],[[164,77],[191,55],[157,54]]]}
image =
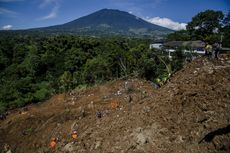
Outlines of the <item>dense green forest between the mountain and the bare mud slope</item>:
{"label": "dense green forest between the mountain and the bare mud slope", "polygon": [[[149,41],[78,36],[0,38],[0,111],[121,77],[155,81],[181,67],[149,50]],[[180,57],[180,58],[179,58]]]}

